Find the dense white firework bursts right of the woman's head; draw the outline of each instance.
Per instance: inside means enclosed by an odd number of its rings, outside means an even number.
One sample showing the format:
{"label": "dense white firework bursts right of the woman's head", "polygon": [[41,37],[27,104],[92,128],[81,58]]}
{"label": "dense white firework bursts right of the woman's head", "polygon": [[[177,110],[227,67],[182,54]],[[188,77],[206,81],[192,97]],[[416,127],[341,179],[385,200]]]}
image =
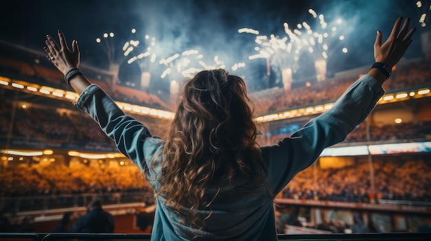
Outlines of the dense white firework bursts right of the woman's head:
{"label": "dense white firework bursts right of the woman's head", "polygon": [[[344,41],[345,36],[337,34],[341,28],[342,20],[337,19],[334,23],[327,23],[323,14],[317,15],[315,10],[309,9],[308,13],[313,19],[318,19],[317,29],[313,29],[310,24],[303,21],[297,23],[295,28],[291,28],[288,23],[284,23],[284,33],[286,36],[276,36],[275,34],[259,35],[258,30],[242,28],[239,33],[255,34],[255,51],[257,54],[249,56],[249,60],[256,58],[271,59],[271,65],[280,69],[296,69],[295,62],[299,59],[299,54],[303,51],[311,54],[315,60],[317,80],[324,80],[326,75],[326,59],[330,56],[329,46],[336,46]],[[344,54],[348,49],[341,50]]]}

